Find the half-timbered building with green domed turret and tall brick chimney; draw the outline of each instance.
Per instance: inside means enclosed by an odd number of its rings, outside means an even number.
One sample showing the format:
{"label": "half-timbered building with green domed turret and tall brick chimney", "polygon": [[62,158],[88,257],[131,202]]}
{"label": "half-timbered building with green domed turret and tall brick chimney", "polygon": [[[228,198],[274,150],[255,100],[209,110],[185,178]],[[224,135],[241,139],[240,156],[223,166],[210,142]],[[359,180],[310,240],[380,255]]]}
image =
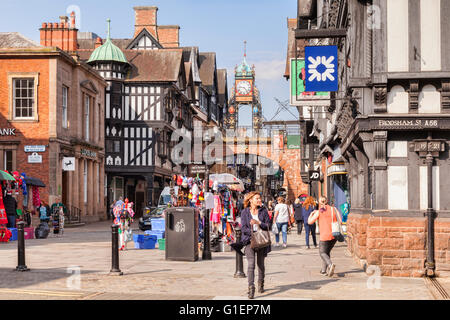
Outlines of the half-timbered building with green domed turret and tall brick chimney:
{"label": "half-timbered building with green domed turret and tall brick chimney", "polygon": [[[79,40],[78,54],[107,81],[105,173],[108,203],[120,196],[156,206],[160,192],[187,163],[172,158],[183,136],[193,143],[196,121],[218,126],[215,55],[205,84],[198,48],[179,47],[178,26],[158,26],[156,7],[135,7],[133,39]],[[103,52],[103,53],[102,53]],[[209,79],[208,78],[208,79]],[[212,89],[212,90],[211,90]],[[204,115],[204,116],[203,116]],[[181,139],[181,138],[180,138]],[[172,141],[173,140],[173,141]],[[201,154],[201,153],[200,153]]]}

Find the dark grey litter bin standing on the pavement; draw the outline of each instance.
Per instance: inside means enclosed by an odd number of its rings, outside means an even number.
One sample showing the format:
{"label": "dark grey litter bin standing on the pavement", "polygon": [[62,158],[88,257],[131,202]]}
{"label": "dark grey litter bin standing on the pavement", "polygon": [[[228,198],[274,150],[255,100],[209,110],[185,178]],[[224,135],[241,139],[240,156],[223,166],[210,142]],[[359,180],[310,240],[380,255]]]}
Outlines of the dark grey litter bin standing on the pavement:
{"label": "dark grey litter bin standing on the pavement", "polygon": [[198,260],[198,217],[195,208],[166,209],[166,260]]}

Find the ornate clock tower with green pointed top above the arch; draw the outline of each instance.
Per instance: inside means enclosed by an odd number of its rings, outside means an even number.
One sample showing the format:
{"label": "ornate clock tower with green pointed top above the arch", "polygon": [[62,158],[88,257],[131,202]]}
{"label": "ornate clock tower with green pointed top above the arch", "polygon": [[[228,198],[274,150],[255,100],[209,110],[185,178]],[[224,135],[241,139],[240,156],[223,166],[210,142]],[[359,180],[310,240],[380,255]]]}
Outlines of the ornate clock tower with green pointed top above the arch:
{"label": "ornate clock tower with green pointed top above the arch", "polygon": [[[244,42],[246,44],[246,42]],[[262,128],[262,107],[258,88],[255,86],[255,66],[247,63],[247,54],[244,50],[244,60],[234,69],[234,85],[231,89],[231,97],[228,102],[225,125],[227,129],[238,127],[239,107],[250,105],[252,108],[252,128]]]}

